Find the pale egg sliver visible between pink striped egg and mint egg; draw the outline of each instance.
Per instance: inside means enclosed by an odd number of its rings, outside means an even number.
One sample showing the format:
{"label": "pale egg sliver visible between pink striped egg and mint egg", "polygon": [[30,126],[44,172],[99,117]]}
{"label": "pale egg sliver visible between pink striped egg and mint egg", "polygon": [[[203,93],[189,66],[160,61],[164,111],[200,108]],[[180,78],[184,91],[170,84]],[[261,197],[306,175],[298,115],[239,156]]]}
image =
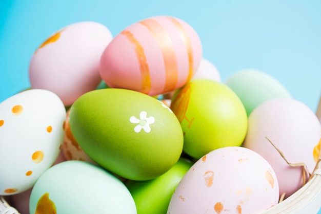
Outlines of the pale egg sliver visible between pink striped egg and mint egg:
{"label": "pale egg sliver visible between pink striped egg and mint egg", "polygon": [[194,76],[192,77],[192,79],[198,78],[212,79],[218,82],[221,81],[221,77],[217,68],[213,65],[211,61],[205,58],[202,58],[202,60],[200,60],[199,67]]}

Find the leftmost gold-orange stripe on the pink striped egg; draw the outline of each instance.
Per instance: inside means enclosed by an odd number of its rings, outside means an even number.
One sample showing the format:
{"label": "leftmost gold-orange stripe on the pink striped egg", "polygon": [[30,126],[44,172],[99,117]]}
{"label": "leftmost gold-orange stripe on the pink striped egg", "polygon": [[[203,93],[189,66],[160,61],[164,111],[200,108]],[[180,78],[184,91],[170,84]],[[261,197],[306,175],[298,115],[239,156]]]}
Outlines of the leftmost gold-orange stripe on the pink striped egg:
{"label": "leftmost gold-orange stripe on the pink striped egg", "polygon": [[127,39],[134,45],[136,56],[139,63],[139,70],[141,71],[142,75],[142,93],[148,94],[151,88],[151,78],[150,78],[150,72],[149,67],[147,63],[147,58],[145,56],[144,48],[139,43],[139,41],[134,37],[133,33],[124,30],[121,34],[125,35]]}

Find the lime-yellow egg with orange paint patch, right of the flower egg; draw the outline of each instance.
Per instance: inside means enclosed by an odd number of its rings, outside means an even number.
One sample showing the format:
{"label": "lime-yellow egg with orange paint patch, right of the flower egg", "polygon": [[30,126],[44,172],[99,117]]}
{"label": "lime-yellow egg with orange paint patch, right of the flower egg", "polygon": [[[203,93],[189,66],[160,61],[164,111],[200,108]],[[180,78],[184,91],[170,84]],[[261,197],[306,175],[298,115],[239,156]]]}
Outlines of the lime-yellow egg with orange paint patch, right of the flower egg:
{"label": "lime-yellow egg with orange paint patch, right of the flower egg", "polygon": [[183,150],[193,158],[243,143],[246,111],[242,101],[224,83],[192,80],[175,93],[171,109],[184,132]]}

